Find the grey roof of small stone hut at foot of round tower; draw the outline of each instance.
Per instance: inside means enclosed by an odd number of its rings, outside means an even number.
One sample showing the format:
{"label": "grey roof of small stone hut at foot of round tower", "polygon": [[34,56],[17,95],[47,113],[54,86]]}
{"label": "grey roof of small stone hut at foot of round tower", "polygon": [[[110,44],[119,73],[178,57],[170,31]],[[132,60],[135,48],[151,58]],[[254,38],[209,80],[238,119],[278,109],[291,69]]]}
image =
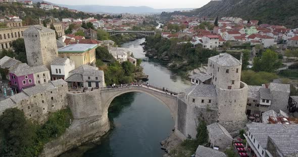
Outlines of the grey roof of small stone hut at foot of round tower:
{"label": "grey roof of small stone hut at foot of round tower", "polygon": [[[231,138],[231,140],[233,139],[232,136],[230,135],[230,133],[226,130],[226,128],[224,128],[219,123],[212,123],[212,124],[208,125],[207,130],[213,138],[217,138],[217,137],[221,137],[221,136],[225,135],[225,136]],[[211,138],[211,137],[209,137],[209,138]]]}

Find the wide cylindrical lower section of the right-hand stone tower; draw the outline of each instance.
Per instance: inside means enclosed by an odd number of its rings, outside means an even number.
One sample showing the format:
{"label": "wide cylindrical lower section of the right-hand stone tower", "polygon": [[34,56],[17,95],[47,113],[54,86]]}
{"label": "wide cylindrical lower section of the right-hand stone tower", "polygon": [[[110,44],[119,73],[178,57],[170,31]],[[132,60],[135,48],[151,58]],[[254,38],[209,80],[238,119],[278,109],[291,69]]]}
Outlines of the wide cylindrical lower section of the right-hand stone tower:
{"label": "wide cylindrical lower section of the right-hand stone tower", "polygon": [[247,85],[240,83],[240,89],[218,90],[218,123],[229,132],[243,128],[247,122],[245,115]]}

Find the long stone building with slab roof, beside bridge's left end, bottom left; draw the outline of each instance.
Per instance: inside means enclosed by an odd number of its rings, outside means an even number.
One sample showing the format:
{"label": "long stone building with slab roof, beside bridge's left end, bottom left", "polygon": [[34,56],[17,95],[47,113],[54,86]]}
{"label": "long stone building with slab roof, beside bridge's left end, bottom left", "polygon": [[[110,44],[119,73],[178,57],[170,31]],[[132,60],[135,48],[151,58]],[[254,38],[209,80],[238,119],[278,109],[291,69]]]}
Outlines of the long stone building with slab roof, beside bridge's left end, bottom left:
{"label": "long stone building with slab roof, beside bridge's left end, bottom left", "polygon": [[27,118],[42,123],[50,112],[68,106],[67,93],[67,83],[62,79],[24,89],[23,92],[0,102],[0,115],[6,109],[18,108],[24,111]]}

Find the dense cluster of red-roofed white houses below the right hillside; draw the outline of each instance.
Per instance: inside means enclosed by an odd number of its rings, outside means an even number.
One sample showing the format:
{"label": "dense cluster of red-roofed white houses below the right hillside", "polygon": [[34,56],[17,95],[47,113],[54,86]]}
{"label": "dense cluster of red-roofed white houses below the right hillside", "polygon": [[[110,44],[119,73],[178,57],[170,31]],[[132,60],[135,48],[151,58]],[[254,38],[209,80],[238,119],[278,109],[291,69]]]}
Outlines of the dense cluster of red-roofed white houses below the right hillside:
{"label": "dense cluster of red-roofed white houses below the right hillside", "polygon": [[284,26],[259,24],[258,20],[243,20],[236,17],[223,17],[218,20],[218,26],[213,30],[199,29],[203,22],[214,23],[214,20],[209,20],[207,17],[185,17],[181,15],[173,16],[173,20],[168,24],[176,24],[183,26],[180,32],[171,33],[175,30],[163,28],[163,38],[180,38],[190,36],[193,45],[202,44],[204,48],[214,49],[220,47],[226,41],[232,45],[242,45],[250,43],[253,45],[263,45],[265,48],[274,46],[278,43],[287,44],[288,47],[298,47],[298,28],[288,29]]}

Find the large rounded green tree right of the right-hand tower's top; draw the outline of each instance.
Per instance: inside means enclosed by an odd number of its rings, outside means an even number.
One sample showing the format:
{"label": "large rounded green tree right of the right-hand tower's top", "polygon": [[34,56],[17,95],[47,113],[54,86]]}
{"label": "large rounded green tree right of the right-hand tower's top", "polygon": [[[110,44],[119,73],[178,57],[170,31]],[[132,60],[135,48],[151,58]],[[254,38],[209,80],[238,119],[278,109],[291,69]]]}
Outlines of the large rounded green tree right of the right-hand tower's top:
{"label": "large rounded green tree right of the right-hand tower's top", "polygon": [[254,58],[254,71],[275,72],[282,62],[278,59],[278,54],[270,49],[262,53],[262,57]]}

